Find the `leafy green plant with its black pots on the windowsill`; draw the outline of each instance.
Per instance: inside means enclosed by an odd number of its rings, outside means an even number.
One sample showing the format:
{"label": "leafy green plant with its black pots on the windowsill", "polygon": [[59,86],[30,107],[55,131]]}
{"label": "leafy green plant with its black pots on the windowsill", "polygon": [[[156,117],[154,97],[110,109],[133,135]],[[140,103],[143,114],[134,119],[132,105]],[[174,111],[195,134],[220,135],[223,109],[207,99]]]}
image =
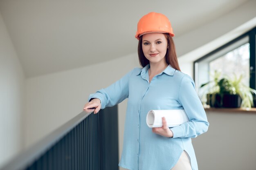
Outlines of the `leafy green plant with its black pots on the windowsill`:
{"label": "leafy green plant with its black pots on the windowsill", "polygon": [[204,89],[202,96],[206,96],[201,97],[202,101],[206,98],[206,104],[211,107],[251,108],[254,106],[253,99],[256,91],[243,84],[242,75],[239,78],[234,75],[234,79],[227,76],[220,78],[220,75],[220,72],[215,71],[213,80],[200,86],[200,89]]}

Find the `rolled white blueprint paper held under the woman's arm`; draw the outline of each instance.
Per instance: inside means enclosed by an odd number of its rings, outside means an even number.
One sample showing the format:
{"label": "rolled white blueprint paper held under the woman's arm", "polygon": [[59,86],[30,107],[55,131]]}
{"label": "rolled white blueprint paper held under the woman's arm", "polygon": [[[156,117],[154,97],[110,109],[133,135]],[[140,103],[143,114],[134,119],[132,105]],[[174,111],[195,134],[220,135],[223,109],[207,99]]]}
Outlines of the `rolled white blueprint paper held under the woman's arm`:
{"label": "rolled white blueprint paper held under the woman's arm", "polygon": [[150,110],[146,121],[150,128],[159,128],[163,126],[162,117],[165,117],[167,126],[173,128],[189,121],[184,109],[180,110]]}

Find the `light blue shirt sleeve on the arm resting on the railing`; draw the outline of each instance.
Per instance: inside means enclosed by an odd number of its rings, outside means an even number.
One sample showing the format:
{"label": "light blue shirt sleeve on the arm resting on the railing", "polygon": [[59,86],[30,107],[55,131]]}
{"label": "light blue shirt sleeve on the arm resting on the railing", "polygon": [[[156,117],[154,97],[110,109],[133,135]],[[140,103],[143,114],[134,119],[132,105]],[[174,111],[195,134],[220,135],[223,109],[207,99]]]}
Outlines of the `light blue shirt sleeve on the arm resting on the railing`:
{"label": "light blue shirt sleeve on the arm resting on the railing", "polygon": [[133,70],[124,75],[124,77],[122,77],[121,79],[117,80],[117,82],[111,84],[110,86],[102,88],[94,94],[90,94],[88,102],[92,98],[100,99],[101,109],[115,106],[116,104],[122,102],[129,95],[128,83],[129,77],[132,74]]}

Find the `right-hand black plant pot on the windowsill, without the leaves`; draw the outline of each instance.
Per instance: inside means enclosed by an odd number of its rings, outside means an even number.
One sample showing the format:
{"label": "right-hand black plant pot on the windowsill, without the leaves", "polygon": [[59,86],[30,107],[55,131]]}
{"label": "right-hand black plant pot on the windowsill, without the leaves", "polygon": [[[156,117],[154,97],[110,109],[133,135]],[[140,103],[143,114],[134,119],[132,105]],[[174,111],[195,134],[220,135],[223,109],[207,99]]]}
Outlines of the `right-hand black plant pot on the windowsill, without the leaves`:
{"label": "right-hand black plant pot on the windowsill, without the leaves", "polygon": [[240,108],[242,98],[240,95],[224,94],[222,99],[222,107],[224,108]]}

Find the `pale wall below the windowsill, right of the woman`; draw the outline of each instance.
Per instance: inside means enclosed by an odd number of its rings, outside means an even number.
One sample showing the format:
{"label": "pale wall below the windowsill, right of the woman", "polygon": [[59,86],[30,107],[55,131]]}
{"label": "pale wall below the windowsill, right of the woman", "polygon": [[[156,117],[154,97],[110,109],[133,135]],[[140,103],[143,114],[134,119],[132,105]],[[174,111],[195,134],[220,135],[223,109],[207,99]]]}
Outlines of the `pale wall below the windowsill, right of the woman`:
{"label": "pale wall below the windowsill, right of the woman", "polygon": [[255,170],[255,113],[207,112],[207,133],[192,139],[200,170]]}

